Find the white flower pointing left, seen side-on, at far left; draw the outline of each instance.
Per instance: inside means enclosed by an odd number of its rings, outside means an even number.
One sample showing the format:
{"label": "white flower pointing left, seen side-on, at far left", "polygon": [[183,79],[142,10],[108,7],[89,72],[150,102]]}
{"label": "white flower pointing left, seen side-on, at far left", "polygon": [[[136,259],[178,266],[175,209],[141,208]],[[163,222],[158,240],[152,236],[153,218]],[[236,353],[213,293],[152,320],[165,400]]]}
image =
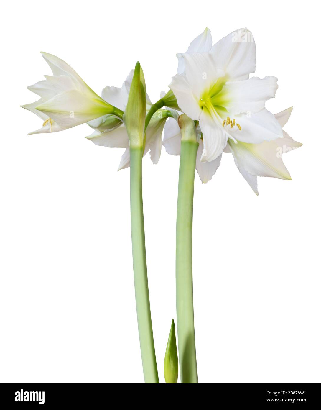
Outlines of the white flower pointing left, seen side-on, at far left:
{"label": "white flower pointing left, seen side-on, at far left", "polygon": [[29,134],[66,130],[115,113],[114,107],[100,98],[66,62],[52,54],[42,55],[53,75],[45,75],[46,80],[27,87],[41,98],[21,107],[43,120],[42,128]]}

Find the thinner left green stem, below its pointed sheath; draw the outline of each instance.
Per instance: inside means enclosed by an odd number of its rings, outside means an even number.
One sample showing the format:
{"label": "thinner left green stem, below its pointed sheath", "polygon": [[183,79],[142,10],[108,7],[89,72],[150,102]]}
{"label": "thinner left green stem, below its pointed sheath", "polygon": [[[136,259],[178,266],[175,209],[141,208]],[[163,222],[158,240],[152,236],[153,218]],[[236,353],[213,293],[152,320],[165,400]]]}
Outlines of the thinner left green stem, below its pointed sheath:
{"label": "thinner left green stem, below its pointed sheath", "polygon": [[145,383],[159,383],[148,294],[141,159],[143,148],[130,148],[130,217],[136,310]]}

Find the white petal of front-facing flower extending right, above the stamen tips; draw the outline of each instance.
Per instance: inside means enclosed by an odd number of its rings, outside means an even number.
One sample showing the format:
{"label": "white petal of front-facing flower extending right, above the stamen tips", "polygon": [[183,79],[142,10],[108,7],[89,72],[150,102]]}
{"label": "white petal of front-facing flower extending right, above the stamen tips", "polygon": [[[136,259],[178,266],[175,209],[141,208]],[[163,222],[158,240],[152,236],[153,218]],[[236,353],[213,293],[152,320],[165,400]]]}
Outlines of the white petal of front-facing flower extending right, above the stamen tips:
{"label": "white petal of front-facing flower extending right, above the stamen tips", "polygon": [[[274,98],[278,89],[278,79],[272,76],[266,76],[261,79],[253,77],[250,80],[229,81],[222,90],[223,100],[226,103],[212,101],[213,105],[222,105],[229,113],[233,115],[242,112],[255,114],[264,108],[265,102]],[[216,96],[219,101],[220,95]]]}

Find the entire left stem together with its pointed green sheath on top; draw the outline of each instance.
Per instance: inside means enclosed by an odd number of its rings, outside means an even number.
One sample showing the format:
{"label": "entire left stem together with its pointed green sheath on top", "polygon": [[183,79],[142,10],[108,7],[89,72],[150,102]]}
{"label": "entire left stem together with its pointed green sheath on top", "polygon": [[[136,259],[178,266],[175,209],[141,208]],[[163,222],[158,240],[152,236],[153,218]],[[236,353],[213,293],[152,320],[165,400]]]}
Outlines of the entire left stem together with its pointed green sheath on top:
{"label": "entire left stem together with its pointed green sheath on top", "polygon": [[128,103],[123,114],[130,145],[130,220],[139,342],[145,383],[159,383],[148,293],[141,160],[146,116],[146,86],[136,64]]}

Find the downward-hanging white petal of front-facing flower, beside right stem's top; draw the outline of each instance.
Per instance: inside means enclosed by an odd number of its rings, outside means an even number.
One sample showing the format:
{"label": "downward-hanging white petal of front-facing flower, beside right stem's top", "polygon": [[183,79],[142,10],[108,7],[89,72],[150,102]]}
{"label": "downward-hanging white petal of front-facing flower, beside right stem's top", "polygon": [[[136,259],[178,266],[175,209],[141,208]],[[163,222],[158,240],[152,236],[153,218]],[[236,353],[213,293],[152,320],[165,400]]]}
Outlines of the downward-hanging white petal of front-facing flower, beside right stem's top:
{"label": "downward-hanging white petal of front-facing flower, beside right stem's top", "polygon": [[221,125],[216,124],[206,107],[204,107],[200,116],[199,124],[204,140],[204,149],[200,160],[213,161],[223,153],[228,135],[224,132]]}

